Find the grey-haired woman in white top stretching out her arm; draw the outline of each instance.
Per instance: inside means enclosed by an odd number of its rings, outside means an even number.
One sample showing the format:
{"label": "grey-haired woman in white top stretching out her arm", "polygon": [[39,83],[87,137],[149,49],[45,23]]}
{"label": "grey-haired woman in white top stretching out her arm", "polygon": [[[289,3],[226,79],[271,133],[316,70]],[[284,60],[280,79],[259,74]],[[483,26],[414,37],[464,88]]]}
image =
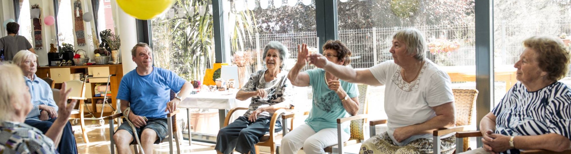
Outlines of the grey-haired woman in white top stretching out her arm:
{"label": "grey-haired woman in white top stretching out her arm", "polygon": [[[365,141],[360,153],[432,153],[432,132],[456,123],[450,78],[425,58],[427,44],[419,30],[401,29],[392,38],[389,52],[394,60],[366,70],[339,66],[320,54],[309,59],[339,79],[385,85],[388,130]],[[453,152],[452,135],[442,137],[443,153]]]}

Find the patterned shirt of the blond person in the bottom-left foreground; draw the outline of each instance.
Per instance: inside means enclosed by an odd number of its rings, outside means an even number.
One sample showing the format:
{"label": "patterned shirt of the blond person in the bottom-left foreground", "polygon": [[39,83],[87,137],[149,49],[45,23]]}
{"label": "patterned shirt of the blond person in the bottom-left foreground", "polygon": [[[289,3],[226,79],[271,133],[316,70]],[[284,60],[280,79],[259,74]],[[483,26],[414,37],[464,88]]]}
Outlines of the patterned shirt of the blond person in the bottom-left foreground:
{"label": "patterned shirt of the blond person in the bottom-left foreground", "polygon": [[0,123],[0,153],[58,153],[54,141],[25,123]]}

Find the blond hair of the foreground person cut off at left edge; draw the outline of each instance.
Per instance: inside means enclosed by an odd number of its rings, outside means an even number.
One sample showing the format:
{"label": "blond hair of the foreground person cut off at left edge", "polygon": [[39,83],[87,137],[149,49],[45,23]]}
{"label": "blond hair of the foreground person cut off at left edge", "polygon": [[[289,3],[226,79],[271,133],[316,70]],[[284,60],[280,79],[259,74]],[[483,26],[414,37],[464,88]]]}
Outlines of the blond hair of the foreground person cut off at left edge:
{"label": "blond hair of the foreground person cut off at left edge", "polygon": [[4,113],[0,116],[0,123],[3,123],[13,119],[14,103],[25,101],[21,88],[25,88],[26,84],[22,78],[22,70],[14,64],[0,65],[0,72],[2,72],[0,73],[0,79],[2,79],[0,80],[0,112]]}

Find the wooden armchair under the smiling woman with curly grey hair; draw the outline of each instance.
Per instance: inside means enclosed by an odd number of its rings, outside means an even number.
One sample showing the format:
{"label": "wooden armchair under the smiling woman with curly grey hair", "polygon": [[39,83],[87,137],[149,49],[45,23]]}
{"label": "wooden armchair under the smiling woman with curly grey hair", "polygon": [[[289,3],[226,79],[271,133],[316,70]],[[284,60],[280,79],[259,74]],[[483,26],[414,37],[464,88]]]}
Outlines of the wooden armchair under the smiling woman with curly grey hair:
{"label": "wooden armchair under the smiling woman with curly grey hair", "polygon": [[[236,107],[236,108],[232,108],[232,110],[228,111],[228,114],[226,115],[226,119],[224,119],[224,127],[226,127],[228,124],[230,124],[230,117],[232,116],[232,114],[234,114],[234,112],[236,112],[238,110],[248,110],[248,108]],[[280,110],[274,112],[274,114],[272,115],[272,119],[270,120],[270,133],[260,137],[260,141],[256,145],[254,145],[256,148],[256,153],[260,153],[258,146],[270,147],[270,153],[271,154],[276,153],[277,143],[279,143],[278,142],[279,139],[282,139],[283,131],[276,132],[275,131],[275,125],[276,125],[276,122],[278,121],[278,117],[280,116],[280,114],[282,114],[284,112],[286,112],[286,110],[284,110],[284,109],[280,109]],[[284,124],[282,124],[282,128],[287,129],[287,127],[285,127]]]}

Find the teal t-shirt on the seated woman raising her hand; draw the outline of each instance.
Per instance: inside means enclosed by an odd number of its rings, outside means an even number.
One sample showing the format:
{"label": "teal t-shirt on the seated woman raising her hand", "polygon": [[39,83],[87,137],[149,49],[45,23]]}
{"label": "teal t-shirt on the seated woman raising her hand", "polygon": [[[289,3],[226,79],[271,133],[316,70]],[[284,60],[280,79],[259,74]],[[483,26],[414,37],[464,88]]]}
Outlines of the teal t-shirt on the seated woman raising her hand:
{"label": "teal t-shirt on the seated woman raising her hand", "polygon": [[[305,119],[305,123],[309,125],[315,132],[319,132],[325,128],[337,128],[337,119],[348,117],[349,113],[345,111],[341,99],[327,86],[325,83],[325,70],[316,68],[305,71],[309,75],[309,86],[313,87],[313,100],[309,117]],[[359,96],[357,85],[344,80],[340,80],[341,87],[347,92],[349,98]],[[341,127],[346,133],[349,133],[349,124],[343,123]]]}

